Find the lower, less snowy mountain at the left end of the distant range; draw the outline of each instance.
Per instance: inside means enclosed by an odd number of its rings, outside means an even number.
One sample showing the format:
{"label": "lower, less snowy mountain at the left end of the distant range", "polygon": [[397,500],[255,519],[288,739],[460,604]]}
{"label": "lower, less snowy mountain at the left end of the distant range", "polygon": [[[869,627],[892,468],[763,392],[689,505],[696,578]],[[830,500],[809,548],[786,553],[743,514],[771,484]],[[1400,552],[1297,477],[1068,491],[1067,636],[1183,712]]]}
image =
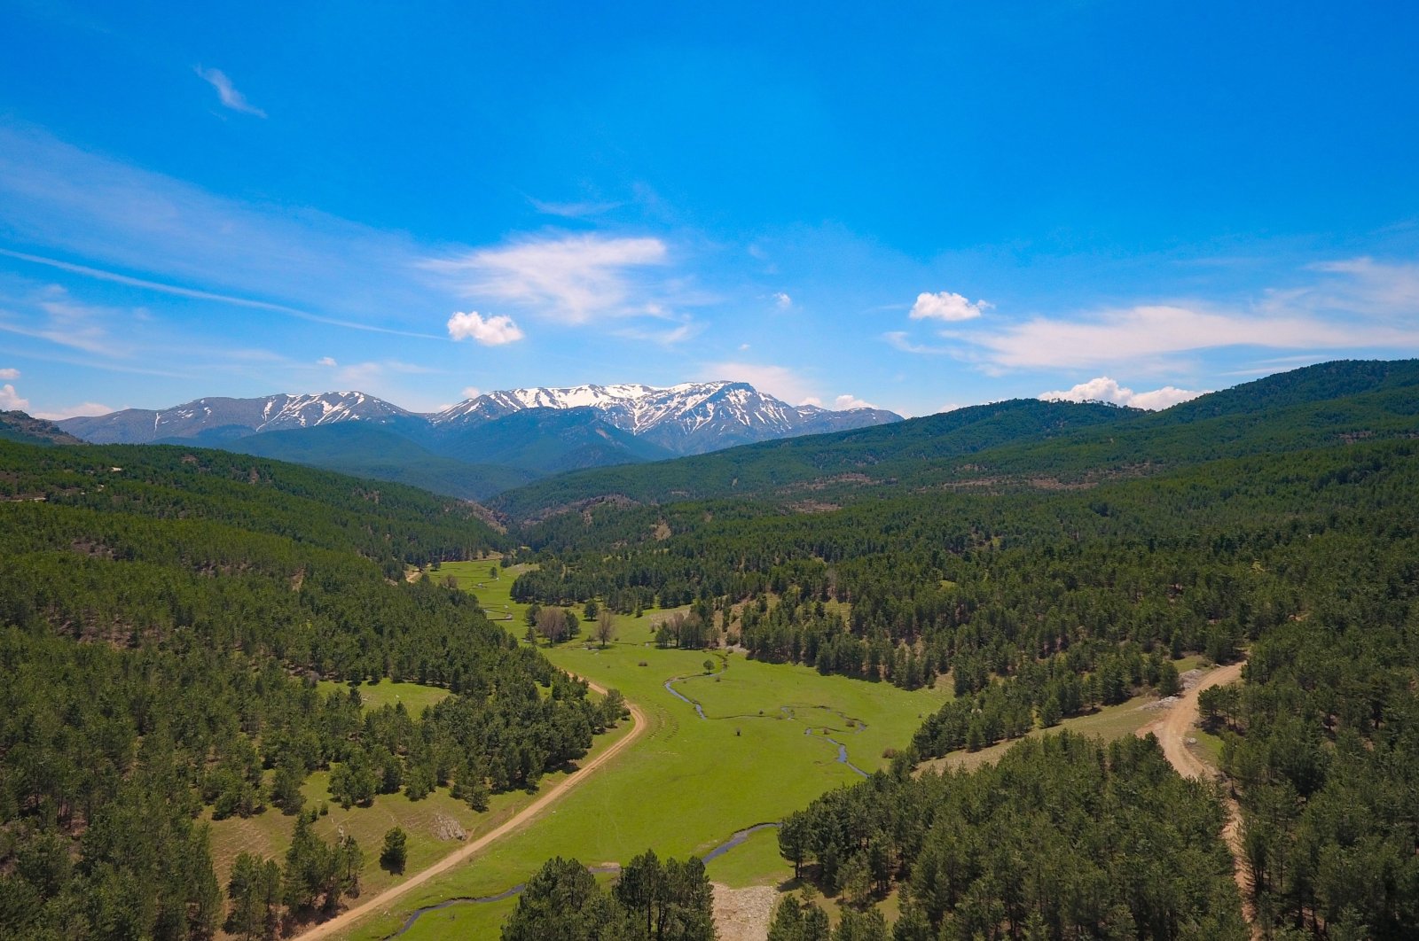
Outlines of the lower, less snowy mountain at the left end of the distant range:
{"label": "lower, less snowy mountain at the left end of the distant range", "polygon": [[67,418],[58,424],[95,444],[150,444],[167,438],[230,439],[339,421],[424,424],[421,415],[365,393],[199,398],[159,411],[125,408],[108,415]]}

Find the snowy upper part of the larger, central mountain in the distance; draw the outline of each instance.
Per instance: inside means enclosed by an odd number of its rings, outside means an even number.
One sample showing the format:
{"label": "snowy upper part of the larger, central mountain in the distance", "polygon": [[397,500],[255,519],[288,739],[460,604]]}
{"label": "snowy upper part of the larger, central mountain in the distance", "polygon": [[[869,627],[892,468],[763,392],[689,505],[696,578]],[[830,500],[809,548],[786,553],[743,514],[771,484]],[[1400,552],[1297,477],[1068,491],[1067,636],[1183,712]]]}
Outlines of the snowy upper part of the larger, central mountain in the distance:
{"label": "snowy upper part of the larger, central mountain in the distance", "polygon": [[877,408],[829,411],[789,405],[748,383],[732,381],[681,383],[668,388],[640,384],[514,388],[461,401],[430,419],[438,429],[451,429],[526,408],[593,408],[607,424],[683,455],[901,419]]}

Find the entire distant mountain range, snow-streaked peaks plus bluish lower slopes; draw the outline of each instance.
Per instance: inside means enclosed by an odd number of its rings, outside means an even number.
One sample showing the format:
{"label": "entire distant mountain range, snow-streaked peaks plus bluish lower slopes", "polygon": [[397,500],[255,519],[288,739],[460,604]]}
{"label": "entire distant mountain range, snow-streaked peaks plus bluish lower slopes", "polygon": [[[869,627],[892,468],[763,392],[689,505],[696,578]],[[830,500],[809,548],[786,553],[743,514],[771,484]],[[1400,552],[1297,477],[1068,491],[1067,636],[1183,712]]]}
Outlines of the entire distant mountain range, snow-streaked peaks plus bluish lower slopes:
{"label": "entire distant mountain range, snow-streaked peaks plus bluish lower slopes", "polygon": [[712,381],[494,391],[430,414],[365,393],[209,397],[57,424],[94,444],[220,448],[481,500],[565,470],[900,419],[789,405],[746,383]]}

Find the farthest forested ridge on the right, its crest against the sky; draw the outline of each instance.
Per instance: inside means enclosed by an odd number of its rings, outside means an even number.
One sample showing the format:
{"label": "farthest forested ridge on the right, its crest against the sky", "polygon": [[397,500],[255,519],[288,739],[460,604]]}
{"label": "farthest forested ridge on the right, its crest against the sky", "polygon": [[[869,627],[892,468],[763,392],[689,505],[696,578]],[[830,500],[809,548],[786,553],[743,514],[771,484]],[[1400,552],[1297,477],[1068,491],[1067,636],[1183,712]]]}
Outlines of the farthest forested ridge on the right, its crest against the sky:
{"label": "farthest forested ridge on the right, its crest against the sky", "polygon": [[1334,361],[1161,412],[1015,400],[850,432],[539,480],[491,502],[514,520],[597,499],[841,505],[939,485],[1070,486],[1202,461],[1416,434],[1419,360]]}

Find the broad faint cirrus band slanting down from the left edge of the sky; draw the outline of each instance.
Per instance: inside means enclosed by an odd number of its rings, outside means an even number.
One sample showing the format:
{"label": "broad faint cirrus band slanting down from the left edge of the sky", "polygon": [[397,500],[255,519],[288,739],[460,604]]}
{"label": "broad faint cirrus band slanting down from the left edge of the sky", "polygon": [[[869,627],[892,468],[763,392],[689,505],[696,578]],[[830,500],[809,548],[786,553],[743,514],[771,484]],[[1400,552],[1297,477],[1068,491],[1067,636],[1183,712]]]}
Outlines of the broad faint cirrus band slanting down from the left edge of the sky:
{"label": "broad faint cirrus band slanting down from the left edge of the sky", "polygon": [[10,258],[345,329],[438,340],[417,327],[451,300],[404,234],[216,196],[3,118],[0,222],[44,247]]}

